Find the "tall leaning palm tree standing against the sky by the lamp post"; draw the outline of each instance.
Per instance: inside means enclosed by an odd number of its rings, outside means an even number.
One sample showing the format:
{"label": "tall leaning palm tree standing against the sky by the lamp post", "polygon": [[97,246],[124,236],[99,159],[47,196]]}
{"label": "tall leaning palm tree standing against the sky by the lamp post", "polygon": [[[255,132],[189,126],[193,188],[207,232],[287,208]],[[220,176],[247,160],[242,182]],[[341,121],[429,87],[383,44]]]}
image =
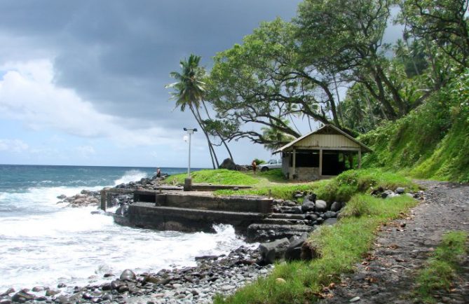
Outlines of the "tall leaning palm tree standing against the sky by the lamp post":
{"label": "tall leaning palm tree standing against the sky by the lamp post", "polygon": [[181,60],[179,64],[182,69],[181,73],[177,71],[170,73],[170,76],[175,78],[176,82],[166,85],[165,88],[174,89],[174,92],[170,92],[170,94],[172,96],[171,99],[176,100],[175,108],[179,107],[181,111],[184,111],[187,106],[191,110],[193,117],[196,118],[200,129],[207,138],[210,158],[212,158],[212,165],[215,169],[218,167],[218,159],[215,154],[215,149],[208,137],[208,132],[205,131],[205,127],[203,126],[200,112],[198,111],[201,102],[203,102],[203,95],[205,94],[205,83],[201,81],[205,77],[205,69],[198,66],[199,62],[200,56],[193,54],[189,56],[189,59]]}

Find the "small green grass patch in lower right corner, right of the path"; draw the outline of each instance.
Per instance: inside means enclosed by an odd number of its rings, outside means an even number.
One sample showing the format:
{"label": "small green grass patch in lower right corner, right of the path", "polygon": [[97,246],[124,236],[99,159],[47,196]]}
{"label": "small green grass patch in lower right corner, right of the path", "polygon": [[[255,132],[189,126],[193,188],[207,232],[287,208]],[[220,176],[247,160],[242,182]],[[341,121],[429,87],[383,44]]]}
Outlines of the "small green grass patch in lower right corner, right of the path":
{"label": "small green grass patch in lower right corner, right of the path", "polygon": [[436,303],[432,293],[438,290],[449,291],[458,271],[458,258],[466,254],[468,233],[451,231],[442,237],[433,256],[417,275],[415,296],[423,303]]}

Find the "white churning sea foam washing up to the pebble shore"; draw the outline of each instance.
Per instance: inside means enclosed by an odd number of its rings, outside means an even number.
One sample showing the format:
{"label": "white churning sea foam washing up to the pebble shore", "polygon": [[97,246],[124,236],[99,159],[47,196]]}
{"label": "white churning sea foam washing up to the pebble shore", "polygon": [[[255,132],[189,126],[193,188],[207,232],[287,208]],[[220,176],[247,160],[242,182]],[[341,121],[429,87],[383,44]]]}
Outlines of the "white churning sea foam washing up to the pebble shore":
{"label": "white churning sea foam washing up to the pebble shore", "polygon": [[1,217],[0,291],[99,283],[104,273],[119,275],[127,268],[143,272],[195,265],[195,256],[226,254],[245,244],[231,226],[217,226],[215,234],[156,232],[118,226],[111,216],[91,214],[95,207],[56,204],[57,195],[79,191],[57,187],[1,193],[0,204],[25,211]]}

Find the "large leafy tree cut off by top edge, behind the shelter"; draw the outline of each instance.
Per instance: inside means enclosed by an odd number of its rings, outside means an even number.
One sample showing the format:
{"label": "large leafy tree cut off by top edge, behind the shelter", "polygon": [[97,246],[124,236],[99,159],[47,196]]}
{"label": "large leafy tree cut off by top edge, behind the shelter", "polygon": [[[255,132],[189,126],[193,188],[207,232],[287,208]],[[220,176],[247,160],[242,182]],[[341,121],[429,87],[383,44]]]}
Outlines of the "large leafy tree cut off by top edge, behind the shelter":
{"label": "large leafy tree cut off by top edge, behind the shelter", "polygon": [[387,73],[383,33],[390,18],[386,0],[305,0],[296,19],[304,61],[362,83],[390,119],[409,111],[399,83]]}

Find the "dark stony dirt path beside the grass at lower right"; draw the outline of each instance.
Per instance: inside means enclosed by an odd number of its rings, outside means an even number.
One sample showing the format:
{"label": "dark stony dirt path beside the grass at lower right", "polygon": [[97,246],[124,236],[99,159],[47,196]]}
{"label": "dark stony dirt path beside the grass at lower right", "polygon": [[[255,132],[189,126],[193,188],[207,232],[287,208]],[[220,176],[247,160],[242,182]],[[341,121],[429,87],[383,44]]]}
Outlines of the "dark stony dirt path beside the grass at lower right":
{"label": "dark stony dirt path beside the grass at lower right", "polygon": [[[321,303],[413,303],[414,275],[449,230],[469,231],[469,185],[418,181],[426,188],[407,219],[383,227],[368,258]],[[338,284],[339,285],[339,284]],[[440,303],[469,303],[469,256],[454,291],[439,293]],[[356,297],[360,297],[357,300]],[[355,299],[354,299],[355,298]]]}

